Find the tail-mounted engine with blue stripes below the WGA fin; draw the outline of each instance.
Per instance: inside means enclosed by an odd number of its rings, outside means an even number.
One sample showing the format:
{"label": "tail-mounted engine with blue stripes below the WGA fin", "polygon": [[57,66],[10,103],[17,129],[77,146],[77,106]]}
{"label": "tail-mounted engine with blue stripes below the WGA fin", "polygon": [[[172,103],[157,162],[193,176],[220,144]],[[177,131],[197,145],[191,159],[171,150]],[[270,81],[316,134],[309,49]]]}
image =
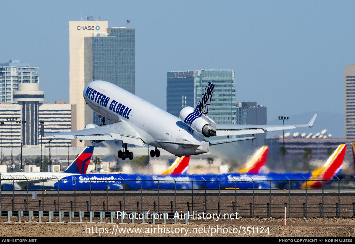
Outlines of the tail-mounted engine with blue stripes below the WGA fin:
{"label": "tail-mounted engine with blue stripes below the WGA fin", "polygon": [[180,120],[184,122],[191,132],[211,137],[216,135],[216,123],[203,113],[196,116],[193,107],[184,107],[179,113]]}

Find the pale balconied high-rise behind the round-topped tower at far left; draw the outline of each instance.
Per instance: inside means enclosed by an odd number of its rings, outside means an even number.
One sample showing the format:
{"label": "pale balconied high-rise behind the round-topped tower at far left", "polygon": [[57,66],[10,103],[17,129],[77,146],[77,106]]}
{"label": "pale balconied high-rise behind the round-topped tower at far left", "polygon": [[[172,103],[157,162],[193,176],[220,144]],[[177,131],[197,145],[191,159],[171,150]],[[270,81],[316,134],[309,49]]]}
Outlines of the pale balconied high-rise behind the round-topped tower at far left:
{"label": "pale balconied high-rise behind the round-topped tower at far left", "polygon": [[14,59],[0,64],[0,102],[13,102],[13,91],[18,90],[18,83],[39,83],[37,69]]}

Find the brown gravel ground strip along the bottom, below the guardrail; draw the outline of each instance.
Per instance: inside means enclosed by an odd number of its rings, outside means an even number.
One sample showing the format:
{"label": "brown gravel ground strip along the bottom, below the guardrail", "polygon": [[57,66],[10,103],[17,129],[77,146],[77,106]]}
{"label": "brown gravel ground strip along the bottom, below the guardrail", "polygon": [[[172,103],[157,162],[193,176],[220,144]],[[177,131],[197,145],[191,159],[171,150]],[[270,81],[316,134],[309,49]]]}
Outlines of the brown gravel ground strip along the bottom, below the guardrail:
{"label": "brown gravel ground strip along the bottom, below the guardrail", "polygon": [[[159,224],[160,233],[157,233],[158,224],[150,223],[19,223],[13,221],[0,222],[0,234],[2,237],[355,237],[354,218],[288,218],[286,220],[286,226],[283,218],[195,220],[187,225]],[[117,228],[119,229],[116,232]],[[120,234],[120,230],[127,231],[125,228],[140,228],[142,233]],[[156,228],[155,233],[154,228]],[[165,233],[161,233],[164,228]],[[216,233],[217,228],[219,233]],[[103,233],[100,234],[100,231]],[[180,233],[175,233],[178,231]]]}

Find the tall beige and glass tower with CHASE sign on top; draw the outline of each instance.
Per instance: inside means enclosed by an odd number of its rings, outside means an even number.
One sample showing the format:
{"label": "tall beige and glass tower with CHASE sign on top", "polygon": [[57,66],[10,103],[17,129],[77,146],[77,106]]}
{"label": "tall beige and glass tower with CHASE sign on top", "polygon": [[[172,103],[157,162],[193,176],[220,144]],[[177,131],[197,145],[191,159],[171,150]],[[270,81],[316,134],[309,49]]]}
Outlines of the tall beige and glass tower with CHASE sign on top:
{"label": "tall beige and glass tower with CHASE sign on top", "polygon": [[[69,49],[70,104],[76,105],[72,130],[79,130],[101,123],[82,97],[89,82],[105,80],[135,93],[135,29],[108,28],[107,21],[69,21]],[[84,143],[75,140],[73,145]]]}

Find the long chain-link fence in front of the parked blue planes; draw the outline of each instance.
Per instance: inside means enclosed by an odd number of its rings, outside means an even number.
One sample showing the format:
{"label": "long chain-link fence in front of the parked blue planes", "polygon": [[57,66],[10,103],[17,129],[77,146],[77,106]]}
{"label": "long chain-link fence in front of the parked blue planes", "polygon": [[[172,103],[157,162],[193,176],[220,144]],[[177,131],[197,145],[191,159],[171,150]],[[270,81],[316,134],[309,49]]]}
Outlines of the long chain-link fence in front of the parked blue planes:
{"label": "long chain-link fence in front of the parked blue planes", "polygon": [[[286,207],[288,217],[355,216],[353,176],[329,181],[189,181],[178,177],[173,180],[79,181],[2,180],[2,186],[7,184],[2,189],[8,190],[0,192],[0,211],[151,211],[282,217]],[[12,190],[9,190],[11,184]],[[264,189],[260,189],[260,185]],[[317,190],[307,189],[315,185]],[[298,188],[302,186],[305,189]]]}

